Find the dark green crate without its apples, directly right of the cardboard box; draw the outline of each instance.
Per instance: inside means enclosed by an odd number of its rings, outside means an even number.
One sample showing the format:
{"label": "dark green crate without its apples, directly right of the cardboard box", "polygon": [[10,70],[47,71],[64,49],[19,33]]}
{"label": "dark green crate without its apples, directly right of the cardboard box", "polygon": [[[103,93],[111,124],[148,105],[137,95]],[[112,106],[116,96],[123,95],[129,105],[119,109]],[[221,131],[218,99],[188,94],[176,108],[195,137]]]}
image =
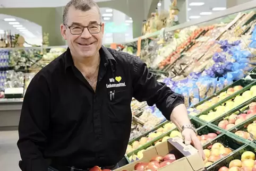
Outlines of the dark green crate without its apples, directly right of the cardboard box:
{"label": "dark green crate without its apples, directly right of the cardboard box", "polygon": [[[224,147],[231,149],[232,152],[229,153],[229,155],[227,155],[226,157],[217,160],[212,165],[215,165],[216,163],[219,163],[220,161],[224,160],[228,156],[232,156],[233,153],[235,153],[237,150],[240,150],[241,147],[243,147],[243,146],[245,146],[245,144],[247,144],[246,142],[243,142],[241,139],[238,139],[238,138],[235,138],[234,136],[223,133],[223,134],[219,135],[216,139],[214,139],[211,142],[205,144],[203,146],[203,149],[211,149],[211,146],[215,143],[223,144]],[[211,168],[212,165],[208,166],[207,169]]]}

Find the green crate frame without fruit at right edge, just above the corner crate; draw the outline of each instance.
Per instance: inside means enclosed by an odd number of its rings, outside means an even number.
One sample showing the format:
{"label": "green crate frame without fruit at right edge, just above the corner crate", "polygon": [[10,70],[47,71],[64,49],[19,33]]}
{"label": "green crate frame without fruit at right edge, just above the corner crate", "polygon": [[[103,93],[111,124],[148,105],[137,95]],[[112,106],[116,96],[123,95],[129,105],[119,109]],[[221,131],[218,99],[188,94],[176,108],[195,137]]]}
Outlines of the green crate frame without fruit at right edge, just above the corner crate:
{"label": "green crate frame without fruit at right edge, just above the corner crate", "polygon": [[246,141],[248,143],[256,143],[253,139],[245,139],[242,136],[236,135],[235,133],[237,131],[247,131],[247,127],[249,124],[251,123],[256,123],[256,115],[252,118],[250,118],[249,120],[245,121],[244,123],[237,125],[236,127],[234,127],[233,129],[227,131],[228,134],[231,134],[232,136],[235,136],[236,138],[242,139],[243,141]]}

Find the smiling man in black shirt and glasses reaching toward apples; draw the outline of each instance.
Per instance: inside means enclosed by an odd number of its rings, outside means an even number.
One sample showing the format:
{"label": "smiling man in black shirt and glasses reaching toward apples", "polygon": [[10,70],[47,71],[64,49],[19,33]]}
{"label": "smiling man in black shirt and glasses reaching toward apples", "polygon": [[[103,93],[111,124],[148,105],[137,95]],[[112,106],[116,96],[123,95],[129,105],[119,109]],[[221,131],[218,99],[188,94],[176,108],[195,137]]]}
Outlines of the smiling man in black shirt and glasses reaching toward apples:
{"label": "smiling man in black shirt and glasses reaching toward apples", "polygon": [[102,46],[104,24],[93,0],[66,5],[61,33],[69,48],[25,93],[18,141],[23,171],[116,168],[129,141],[132,97],[156,104],[203,157],[183,97],[157,82],[138,57]]}

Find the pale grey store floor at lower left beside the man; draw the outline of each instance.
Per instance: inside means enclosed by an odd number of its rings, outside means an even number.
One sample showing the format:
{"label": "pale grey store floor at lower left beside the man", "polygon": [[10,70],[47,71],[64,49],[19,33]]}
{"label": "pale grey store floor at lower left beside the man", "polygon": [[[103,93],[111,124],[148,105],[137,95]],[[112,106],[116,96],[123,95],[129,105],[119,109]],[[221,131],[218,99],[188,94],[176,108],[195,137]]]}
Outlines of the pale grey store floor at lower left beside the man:
{"label": "pale grey store floor at lower left beside the man", "polygon": [[0,131],[0,167],[3,171],[20,171],[18,137],[18,131]]}

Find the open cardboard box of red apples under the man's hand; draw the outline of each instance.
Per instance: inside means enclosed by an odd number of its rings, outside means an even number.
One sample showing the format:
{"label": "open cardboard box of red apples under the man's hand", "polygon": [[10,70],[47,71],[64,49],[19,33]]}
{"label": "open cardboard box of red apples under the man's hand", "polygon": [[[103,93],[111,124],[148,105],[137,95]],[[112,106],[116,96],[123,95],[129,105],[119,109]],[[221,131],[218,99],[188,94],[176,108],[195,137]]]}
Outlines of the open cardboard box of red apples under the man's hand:
{"label": "open cardboard box of red apples under the man's hand", "polygon": [[179,137],[170,138],[143,151],[143,158],[115,171],[202,171],[204,163],[198,150],[186,146]]}

